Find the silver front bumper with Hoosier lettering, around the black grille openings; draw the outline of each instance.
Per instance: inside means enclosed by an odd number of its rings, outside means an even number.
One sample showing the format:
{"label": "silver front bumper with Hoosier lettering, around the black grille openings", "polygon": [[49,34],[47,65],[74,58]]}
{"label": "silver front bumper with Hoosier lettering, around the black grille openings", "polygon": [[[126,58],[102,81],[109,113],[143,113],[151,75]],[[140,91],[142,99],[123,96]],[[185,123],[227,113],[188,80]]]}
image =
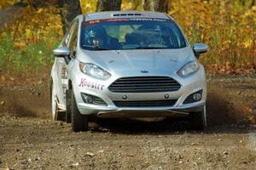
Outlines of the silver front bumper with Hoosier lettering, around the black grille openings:
{"label": "silver front bumper with Hoosier lettering, around the black grille openings", "polygon": [[[138,75],[135,75],[138,77]],[[144,76],[144,75],[143,75]],[[166,75],[156,75],[166,76]],[[95,80],[92,77],[86,77],[80,73],[73,79],[73,91],[79,111],[82,115],[96,115],[101,117],[152,117],[152,116],[187,116],[189,112],[202,111],[207,98],[207,83],[204,68],[189,77],[178,77],[173,75],[172,78],[181,84],[181,88],[172,92],[161,93],[113,93],[108,90],[117,78],[113,77],[107,81]],[[85,81],[85,83],[83,82]],[[90,84],[88,84],[88,82]],[[92,85],[93,84],[93,85]],[[197,91],[202,90],[201,100],[194,103],[183,104],[183,101]],[[84,103],[81,93],[94,95],[102,99],[107,106],[91,105]],[[169,99],[177,99],[175,105],[172,106],[154,106],[154,107],[117,107],[113,104],[114,100],[161,100],[165,99],[165,95],[169,95]]]}

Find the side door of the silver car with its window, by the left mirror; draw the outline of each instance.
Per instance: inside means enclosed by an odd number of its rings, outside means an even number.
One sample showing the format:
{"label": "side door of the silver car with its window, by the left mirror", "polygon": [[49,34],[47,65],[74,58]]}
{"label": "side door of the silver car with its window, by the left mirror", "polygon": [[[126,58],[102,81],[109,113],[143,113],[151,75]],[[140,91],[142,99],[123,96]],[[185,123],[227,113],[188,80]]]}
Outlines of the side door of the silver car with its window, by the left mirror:
{"label": "side door of the silver car with its window, by the left mirror", "polygon": [[[76,26],[77,22],[73,21],[71,24],[69,31],[67,31],[66,36],[63,38],[61,42],[62,47],[68,47],[70,44],[72,37],[73,37],[73,31]],[[66,89],[67,89],[67,62],[63,58],[55,58],[55,89],[58,96],[58,107],[61,110],[66,109]]]}

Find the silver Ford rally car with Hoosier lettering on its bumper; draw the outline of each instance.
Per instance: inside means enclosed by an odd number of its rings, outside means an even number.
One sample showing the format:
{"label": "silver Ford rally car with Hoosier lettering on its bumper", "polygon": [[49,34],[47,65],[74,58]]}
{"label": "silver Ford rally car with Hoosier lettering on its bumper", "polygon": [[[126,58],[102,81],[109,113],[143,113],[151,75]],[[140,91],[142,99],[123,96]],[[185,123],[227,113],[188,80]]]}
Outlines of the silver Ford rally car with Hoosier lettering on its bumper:
{"label": "silver Ford rally car with Hoosier lettering on its bumper", "polygon": [[[207,127],[207,83],[200,54],[167,14],[102,12],[76,17],[54,50],[50,96],[54,120],[74,132],[94,117],[188,116]],[[64,113],[64,114],[63,114]]]}

